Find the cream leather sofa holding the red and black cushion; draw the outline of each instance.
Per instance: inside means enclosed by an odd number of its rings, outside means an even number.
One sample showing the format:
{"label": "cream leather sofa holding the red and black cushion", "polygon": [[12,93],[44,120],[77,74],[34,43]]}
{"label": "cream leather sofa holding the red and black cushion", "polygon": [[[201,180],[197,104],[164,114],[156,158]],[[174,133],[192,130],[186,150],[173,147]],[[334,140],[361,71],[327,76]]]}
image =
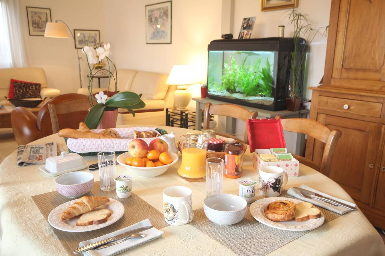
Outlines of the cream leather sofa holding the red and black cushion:
{"label": "cream leather sofa holding the red and black cushion", "polygon": [[[60,91],[54,88],[47,88],[47,77],[42,68],[2,68],[0,69],[0,104],[7,101],[4,96],[8,97],[9,86],[12,79],[22,80],[32,83],[42,84],[40,96],[46,100],[60,95]],[[11,103],[9,103],[12,105]]]}

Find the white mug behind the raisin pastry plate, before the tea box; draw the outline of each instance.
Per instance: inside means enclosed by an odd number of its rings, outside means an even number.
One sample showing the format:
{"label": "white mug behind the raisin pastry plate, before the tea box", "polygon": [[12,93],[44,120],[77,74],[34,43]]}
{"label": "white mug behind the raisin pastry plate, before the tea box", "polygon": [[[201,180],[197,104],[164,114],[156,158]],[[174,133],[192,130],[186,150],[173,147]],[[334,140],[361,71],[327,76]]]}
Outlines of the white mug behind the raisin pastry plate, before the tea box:
{"label": "white mug behind the raisin pastry plate, before the tea box", "polygon": [[265,197],[279,197],[288,183],[288,175],[278,166],[259,168],[259,193]]}

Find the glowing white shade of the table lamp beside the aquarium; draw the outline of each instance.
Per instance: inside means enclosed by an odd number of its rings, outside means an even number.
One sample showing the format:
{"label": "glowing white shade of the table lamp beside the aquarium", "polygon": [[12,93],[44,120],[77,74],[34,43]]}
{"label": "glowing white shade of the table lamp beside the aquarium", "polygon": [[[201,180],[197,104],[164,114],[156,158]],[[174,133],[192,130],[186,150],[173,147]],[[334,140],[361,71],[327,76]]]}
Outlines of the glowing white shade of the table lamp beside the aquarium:
{"label": "glowing white shade of the table lamp beside the aquarium", "polygon": [[167,78],[167,85],[198,84],[194,71],[190,65],[174,65]]}

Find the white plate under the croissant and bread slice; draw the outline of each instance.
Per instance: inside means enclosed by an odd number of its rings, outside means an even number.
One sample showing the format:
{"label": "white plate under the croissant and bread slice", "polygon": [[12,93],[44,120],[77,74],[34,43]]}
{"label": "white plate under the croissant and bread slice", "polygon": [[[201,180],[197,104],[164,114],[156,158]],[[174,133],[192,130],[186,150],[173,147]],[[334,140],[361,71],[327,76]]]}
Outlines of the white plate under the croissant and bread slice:
{"label": "white plate under the croissant and bread slice", "polygon": [[57,206],[54,210],[50,212],[48,215],[48,222],[51,226],[54,228],[57,228],[58,230],[68,231],[68,232],[85,232],[85,231],[92,231],[92,230],[98,230],[99,228],[104,228],[106,226],[111,225],[112,223],[115,223],[117,220],[119,220],[124,213],[124,206],[121,202],[109,198],[110,201],[108,203],[105,203],[104,205],[100,205],[99,207],[95,208],[94,210],[101,210],[101,209],[109,209],[111,210],[111,216],[108,218],[107,222],[97,225],[88,225],[88,226],[76,226],[76,221],[79,220],[79,216],[75,216],[73,218],[67,219],[67,220],[61,220],[60,215],[62,215],[63,211],[67,209],[69,206],[71,206],[77,199],[68,201],[67,203],[63,203],[62,205]]}

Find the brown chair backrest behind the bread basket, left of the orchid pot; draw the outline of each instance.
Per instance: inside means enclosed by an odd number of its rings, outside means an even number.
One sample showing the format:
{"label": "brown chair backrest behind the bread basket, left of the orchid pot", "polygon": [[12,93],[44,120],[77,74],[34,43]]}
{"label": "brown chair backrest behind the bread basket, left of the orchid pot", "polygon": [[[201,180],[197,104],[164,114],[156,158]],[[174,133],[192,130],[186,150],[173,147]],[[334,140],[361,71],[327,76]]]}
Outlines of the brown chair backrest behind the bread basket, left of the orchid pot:
{"label": "brown chair backrest behind the bread basket, left of the orchid pot", "polygon": [[78,128],[79,122],[84,122],[90,103],[88,97],[82,94],[63,94],[48,101],[48,109],[52,123],[52,132],[57,133],[64,128]]}

